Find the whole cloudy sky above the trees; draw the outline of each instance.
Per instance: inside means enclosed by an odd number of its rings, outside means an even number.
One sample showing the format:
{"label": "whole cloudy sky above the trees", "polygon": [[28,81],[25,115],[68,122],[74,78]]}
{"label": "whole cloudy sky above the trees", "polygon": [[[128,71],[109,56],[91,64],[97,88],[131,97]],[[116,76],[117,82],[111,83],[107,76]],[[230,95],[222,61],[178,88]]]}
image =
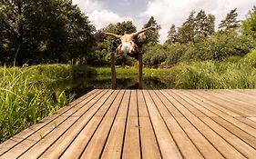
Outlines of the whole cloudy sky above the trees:
{"label": "whole cloudy sky above the trees", "polygon": [[78,5],[97,29],[129,20],[139,30],[154,16],[161,25],[159,41],[164,43],[170,26],[182,25],[192,10],[215,15],[218,28],[231,9],[237,8],[238,19],[245,19],[256,0],[73,0],[73,4]]}

